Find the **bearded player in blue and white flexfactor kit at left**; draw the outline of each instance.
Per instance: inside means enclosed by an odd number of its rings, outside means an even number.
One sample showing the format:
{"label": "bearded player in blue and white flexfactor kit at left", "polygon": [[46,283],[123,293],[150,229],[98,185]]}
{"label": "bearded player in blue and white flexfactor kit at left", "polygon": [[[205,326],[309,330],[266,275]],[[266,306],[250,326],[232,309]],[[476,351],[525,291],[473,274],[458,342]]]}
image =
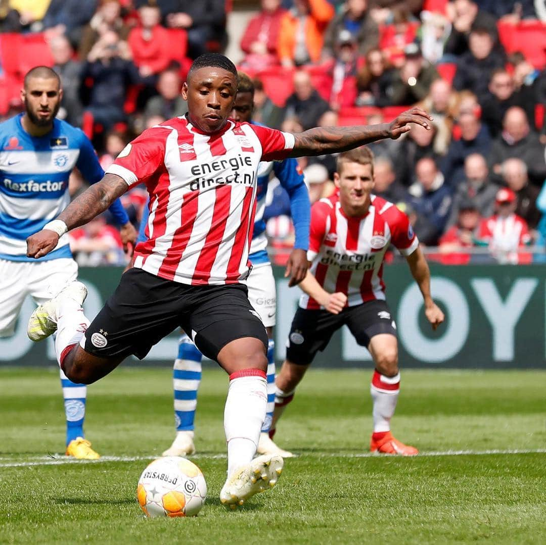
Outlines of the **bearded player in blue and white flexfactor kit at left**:
{"label": "bearded player in blue and white flexfactor kit at left", "polygon": [[[26,238],[42,229],[67,207],[68,177],[77,167],[88,183],[104,176],[91,142],[56,119],[62,88],[58,75],[36,67],[25,76],[25,113],[0,123],[0,337],[13,335],[27,295],[36,304],[48,301],[78,276],[68,235],[40,259],[27,257]],[[136,231],[121,202],[110,211],[121,227],[124,244],[134,244]],[[94,459],[99,455],[84,439],[86,387],[61,371],[67,419],[67,455]]]}

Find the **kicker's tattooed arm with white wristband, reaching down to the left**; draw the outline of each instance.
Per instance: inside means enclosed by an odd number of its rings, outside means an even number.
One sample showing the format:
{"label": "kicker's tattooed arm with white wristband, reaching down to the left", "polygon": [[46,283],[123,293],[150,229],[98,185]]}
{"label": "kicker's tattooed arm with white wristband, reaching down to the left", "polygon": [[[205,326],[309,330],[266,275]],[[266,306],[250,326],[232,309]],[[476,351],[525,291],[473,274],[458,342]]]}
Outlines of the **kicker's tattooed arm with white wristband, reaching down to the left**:
{"label": "kicker's tattooed arm with white wristband, reaching down to the left", "polygon": [[[63,221],[67,230],[85,225],[88,221],[104,212],[117,197],[127,191],[129,186],[120,176],[106,174],[96,184],[90,185],[80,196],[76,197],[56,218]],[[56,231],[42,229],[27,238],[27,256],[43,257],[54,249],[59,241]]]}

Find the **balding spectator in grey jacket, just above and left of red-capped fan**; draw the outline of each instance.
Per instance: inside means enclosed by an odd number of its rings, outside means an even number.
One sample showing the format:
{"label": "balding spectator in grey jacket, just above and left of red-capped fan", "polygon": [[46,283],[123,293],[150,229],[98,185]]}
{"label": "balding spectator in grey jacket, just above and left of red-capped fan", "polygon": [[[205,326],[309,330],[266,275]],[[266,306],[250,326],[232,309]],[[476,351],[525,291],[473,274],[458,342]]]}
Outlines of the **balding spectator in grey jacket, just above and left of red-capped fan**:
{"label": "balding spectator in grey jacket, just above and left of red-capped fan", "polygon": [[493,213],[497,191],[498,185],[489,179],[485,157],[479,153],[468,155],[465,159],[465,180],[455,189],[448,226],[455,224],[465,202],[471,202],[482,217],[488,218]]}

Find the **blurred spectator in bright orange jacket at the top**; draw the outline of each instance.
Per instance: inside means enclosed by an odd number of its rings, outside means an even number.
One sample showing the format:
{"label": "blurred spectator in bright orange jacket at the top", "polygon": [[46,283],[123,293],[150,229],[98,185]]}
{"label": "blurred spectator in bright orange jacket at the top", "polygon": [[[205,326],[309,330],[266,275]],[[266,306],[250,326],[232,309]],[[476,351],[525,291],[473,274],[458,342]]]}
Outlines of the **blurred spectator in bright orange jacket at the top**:
{"label": "blurred spectator in bright orange jacket at the top", "polygon": [[327,0],[294,0],[294,7],[281,20],[278,55],[286,67],[317,62],[321,58],[323,33],[334,16]]}

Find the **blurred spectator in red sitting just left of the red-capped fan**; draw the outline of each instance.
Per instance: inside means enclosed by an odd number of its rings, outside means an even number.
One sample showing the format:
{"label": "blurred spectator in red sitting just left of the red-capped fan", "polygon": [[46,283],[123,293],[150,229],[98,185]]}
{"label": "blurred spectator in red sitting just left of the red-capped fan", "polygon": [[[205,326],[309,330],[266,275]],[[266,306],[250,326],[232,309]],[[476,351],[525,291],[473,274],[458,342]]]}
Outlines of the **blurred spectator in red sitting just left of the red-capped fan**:
{"label": "blurred spectator in red sitting just left of the red-capped fan", "polygon": [[461,201],[455,223],[440,237],[438,246],[444,265],[467,265],[471,254],[461,253],[461,248],[472,248],[479,236],[480,213],[471,200]]}

